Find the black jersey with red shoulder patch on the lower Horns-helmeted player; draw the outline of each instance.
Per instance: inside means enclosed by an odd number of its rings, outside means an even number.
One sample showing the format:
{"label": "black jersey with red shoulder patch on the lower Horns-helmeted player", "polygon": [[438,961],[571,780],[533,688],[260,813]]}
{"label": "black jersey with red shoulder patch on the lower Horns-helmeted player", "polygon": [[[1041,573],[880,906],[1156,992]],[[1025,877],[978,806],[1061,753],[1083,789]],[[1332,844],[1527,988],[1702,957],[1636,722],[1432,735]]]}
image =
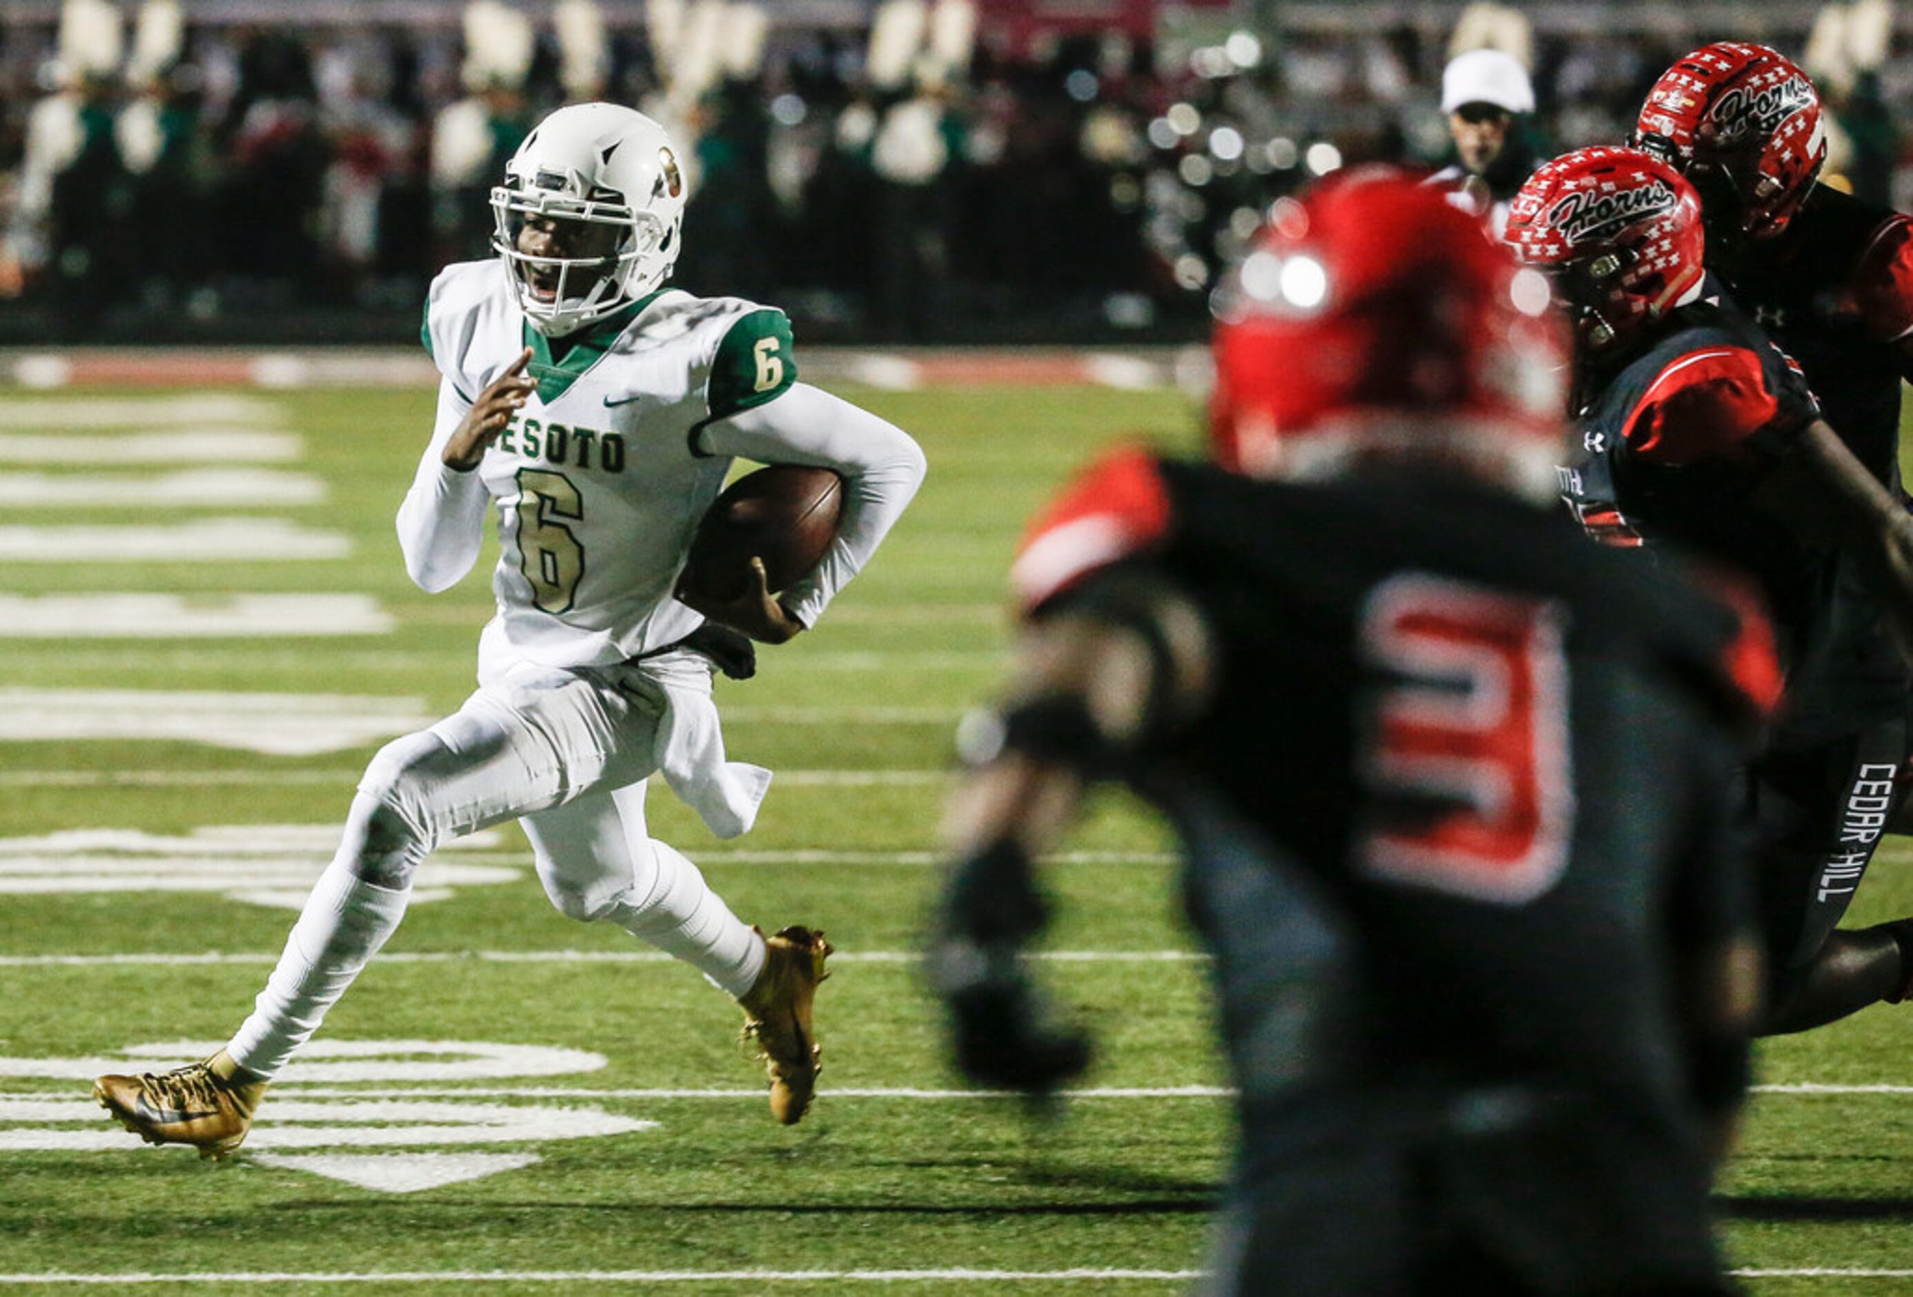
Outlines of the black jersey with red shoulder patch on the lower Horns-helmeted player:
{"label": "black jersey with red shoulder patch on the lower Horns-helmeted player", "polygon": [[1819,415],[1800,365],[1708,281],[1580,409],[1561,494],[1595,539],[1672,543],[1748,574],[1777,627],[1787,702],[1775,740],[1823,742],[1905,706],[1907,668],[1852,559],[1750,501]]}

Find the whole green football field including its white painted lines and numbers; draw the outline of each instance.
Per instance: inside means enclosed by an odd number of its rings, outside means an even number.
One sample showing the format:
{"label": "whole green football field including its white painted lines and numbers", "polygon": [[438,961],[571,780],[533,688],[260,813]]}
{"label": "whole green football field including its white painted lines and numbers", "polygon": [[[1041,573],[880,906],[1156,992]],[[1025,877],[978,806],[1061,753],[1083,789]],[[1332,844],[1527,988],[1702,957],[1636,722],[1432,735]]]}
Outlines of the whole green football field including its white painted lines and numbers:
{"label": "whole green football field including its white painted lines and numbers", "polygon": [[[0,406],[0,1286],[8,1291],[1173,1293],[1228,1142],[1161,830],[1110,798],[1050,868],[1043,976],[1100,1056],[1054,1113],[964,1092],[913,951],[951,731],[1006,664],[1018,530],[1094,448],[1194,442],[1173,392],[849,392],[930,480],[815,633],[719,683],[779,771],[717,842],[748,920],[821,926],[823,1094],[771,1123],[737,1010],[559,916],[515,826],[440,851],[239,1157],[153,1150],[96,1071],[251,1006],[371,752],[471,687],[495,555],[446,595],[392,511],[430,392],[73,392]],[[1890,844],[1859,918],[1913,911]],[[1722,1190],[1760,1293],[1913,1291],[1913,1014],[1768,1044]]]}

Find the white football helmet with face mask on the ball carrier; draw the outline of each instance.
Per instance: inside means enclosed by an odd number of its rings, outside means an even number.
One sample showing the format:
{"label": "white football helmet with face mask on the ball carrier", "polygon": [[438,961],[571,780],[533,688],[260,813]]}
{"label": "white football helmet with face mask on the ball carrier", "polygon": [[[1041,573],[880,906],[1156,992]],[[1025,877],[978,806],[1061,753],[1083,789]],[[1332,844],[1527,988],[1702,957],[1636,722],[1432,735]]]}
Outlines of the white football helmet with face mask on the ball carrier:
{"label": "white football helmet with face mask on the ball carrier", "polygon": [[[677,262],[685,176],[658,122],[616,103],[562,107],[524,138],[492,189],[495,251],[532,327],[564,337],[656,289]],[[518,251],[528,220],[616,226],[599,256]]]}

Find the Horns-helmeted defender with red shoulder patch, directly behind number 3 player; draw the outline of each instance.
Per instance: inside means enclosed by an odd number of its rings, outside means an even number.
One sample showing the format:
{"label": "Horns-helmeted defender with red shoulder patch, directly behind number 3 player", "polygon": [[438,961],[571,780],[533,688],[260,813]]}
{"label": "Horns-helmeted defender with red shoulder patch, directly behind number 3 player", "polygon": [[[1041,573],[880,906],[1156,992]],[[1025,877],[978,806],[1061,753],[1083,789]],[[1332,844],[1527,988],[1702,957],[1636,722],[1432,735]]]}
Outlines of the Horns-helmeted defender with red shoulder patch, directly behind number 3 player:
{"label": "Horns-helmeted defender with red shoulder patch, directly behind number 3 player", "polygon": [[1771,974],[1762,1031],[1905,991],[1907,924],[1838,930],[1905,754],[1913,539],[1800,367],[1704,277],[1701,209],[1664,161],[1580,149],[1517,195],[1507,237],[1578,312],[1582,453],[1569,505],[1599,539],[1670,541],[1752,578],[1787,692],[1745,777]]}

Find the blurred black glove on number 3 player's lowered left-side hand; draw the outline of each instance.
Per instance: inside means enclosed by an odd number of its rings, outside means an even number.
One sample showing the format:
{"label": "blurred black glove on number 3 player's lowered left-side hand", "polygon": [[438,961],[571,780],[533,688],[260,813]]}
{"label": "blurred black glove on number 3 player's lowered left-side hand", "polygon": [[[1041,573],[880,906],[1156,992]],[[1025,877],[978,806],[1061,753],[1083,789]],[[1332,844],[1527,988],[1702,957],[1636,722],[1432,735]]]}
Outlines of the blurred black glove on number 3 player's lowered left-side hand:
{"label": "blurred black glove on number 3 player's lowered left-side hand", "polygon": [[930,978],[949,1008],[956,1066],[978,1085],[1048,1094],[1088,1066],[1088,1037],[1056,1023],[1018,958],[1046,916],[1029,857],[1012,842],[951,870]]}

